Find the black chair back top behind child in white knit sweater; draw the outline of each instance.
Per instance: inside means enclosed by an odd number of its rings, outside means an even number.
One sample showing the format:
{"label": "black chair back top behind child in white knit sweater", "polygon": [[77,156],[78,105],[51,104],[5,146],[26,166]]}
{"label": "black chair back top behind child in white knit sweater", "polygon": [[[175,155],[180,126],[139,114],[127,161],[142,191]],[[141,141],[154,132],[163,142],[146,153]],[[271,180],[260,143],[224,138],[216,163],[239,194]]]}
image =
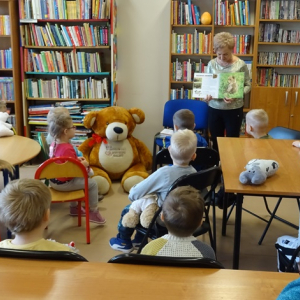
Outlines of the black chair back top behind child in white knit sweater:
{"label": "black chair back top behind child in white knit sweater", "polygon": [[189,268],[208,268],[224,269],[224,266],[210,258],[197,257],[167,257],[152,256],[133,253],[119,254],[112,257],[108,263],[131,264],[131,265],[150,265],[150,266],[170,266],[170,267],[189,267]]}

